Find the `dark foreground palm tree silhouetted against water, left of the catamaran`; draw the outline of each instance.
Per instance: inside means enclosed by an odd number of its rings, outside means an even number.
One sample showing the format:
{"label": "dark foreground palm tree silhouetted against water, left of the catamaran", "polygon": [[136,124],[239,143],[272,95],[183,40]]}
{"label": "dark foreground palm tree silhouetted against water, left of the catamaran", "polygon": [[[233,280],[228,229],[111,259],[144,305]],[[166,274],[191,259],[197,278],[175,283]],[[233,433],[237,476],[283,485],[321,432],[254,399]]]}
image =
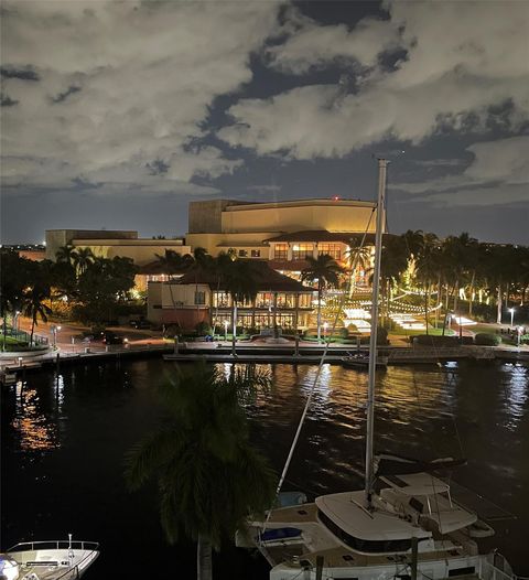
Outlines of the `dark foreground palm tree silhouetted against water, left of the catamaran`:
{"label": "dark foreground palm tree silhouetted against water, left of the catamaran", "polygon": [[197,543],[197,578],[212,578],[212,547],[219,549],[244,527],[249,513],[263,513],[276,476],[251,447],[241,393],[262,384],[259,376],[212,366],[184,369],[162,385],[169,417],[126,459],[131,488],[158,483],[160,518],[174,544],[181,533]]}

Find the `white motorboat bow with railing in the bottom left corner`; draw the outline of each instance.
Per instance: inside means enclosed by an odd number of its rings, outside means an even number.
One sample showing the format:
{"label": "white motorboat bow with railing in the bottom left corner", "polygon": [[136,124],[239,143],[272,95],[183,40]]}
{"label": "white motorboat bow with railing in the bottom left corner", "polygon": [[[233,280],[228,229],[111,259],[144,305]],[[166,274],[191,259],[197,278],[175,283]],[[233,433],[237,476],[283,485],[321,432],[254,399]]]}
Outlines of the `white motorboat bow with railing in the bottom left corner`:
{"label": "white motorboat bow with railing in the bottom left corner", "polygon": [[3,580],[76,580],[99,556],[95,541],[24,541],[0,555]]}

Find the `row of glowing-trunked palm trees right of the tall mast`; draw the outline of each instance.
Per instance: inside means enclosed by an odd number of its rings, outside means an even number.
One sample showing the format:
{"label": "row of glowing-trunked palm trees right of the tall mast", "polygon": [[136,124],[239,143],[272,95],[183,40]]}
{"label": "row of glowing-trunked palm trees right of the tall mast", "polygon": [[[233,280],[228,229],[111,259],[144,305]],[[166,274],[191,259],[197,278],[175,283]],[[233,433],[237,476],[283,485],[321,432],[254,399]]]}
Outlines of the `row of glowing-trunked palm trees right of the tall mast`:
{"label": "row of glowing-trunked palm trees right of the tall mast", "polygon": [[381,278],[388,300],[397,286],[419,289],[427,319],[436,293],[435,304],[443,305],[445,315],[451,310],[462,311],[460,297],[466,299],[471,316],[476,302],[496,302],[496,321],[500,323],[506,302],[525,303],[529,248],[483,244],[466,233],[440,239],[431,233],[409,230],[385,239]]}

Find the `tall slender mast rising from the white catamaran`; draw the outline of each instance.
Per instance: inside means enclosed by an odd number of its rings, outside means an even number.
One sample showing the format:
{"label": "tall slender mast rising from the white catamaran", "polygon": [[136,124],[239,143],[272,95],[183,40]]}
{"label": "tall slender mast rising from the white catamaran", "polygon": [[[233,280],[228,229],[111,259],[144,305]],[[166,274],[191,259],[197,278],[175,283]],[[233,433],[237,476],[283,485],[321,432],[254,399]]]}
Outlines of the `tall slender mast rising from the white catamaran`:
{"label": "tall slender mast rising from the white catamaran", "polygon": [[366,501],[370,505],[371,488],[374,483],[374,420],[375,420],[375,370],[377,368],[377,324],[378,324],[378,294],[380,287],[380,258],[382,254],[382,229],[385,219],[386,197],[386,170],[388,161],[378,160],[378,202],[377,202],[377,229],[375,237],[375,268],[373,275],[371,294],[371,335],[369,339],[369,380],[367,389],[367,433],[366,433]]}

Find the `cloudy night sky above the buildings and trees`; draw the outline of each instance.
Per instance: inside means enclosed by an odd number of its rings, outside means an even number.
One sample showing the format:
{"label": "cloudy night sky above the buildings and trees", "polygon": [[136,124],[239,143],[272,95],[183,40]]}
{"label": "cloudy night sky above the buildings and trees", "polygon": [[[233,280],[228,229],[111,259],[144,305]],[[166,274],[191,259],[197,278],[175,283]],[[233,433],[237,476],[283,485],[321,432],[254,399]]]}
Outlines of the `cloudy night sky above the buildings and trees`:
{"label": "cloudy night sky above the buildings and trees", "polygon": [[[1,237],[374,200],[529,245],[529,2],[2,1]],[[402,151],[404,151],[402,153]]]}

